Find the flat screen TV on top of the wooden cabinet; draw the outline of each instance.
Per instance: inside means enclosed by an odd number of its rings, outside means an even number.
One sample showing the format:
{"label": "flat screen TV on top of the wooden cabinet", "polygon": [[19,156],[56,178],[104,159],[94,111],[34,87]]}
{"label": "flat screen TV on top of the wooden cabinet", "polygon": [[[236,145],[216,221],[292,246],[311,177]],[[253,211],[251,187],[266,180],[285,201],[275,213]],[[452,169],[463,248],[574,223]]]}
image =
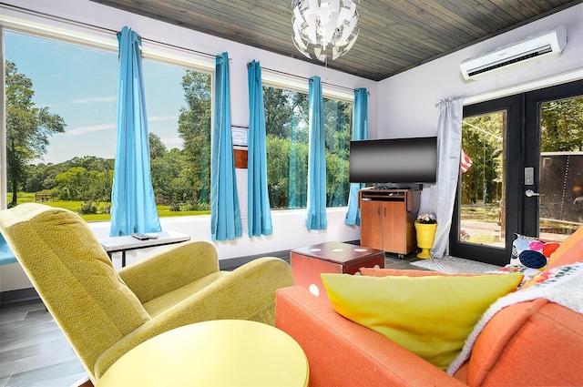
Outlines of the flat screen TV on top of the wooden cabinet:
{"label": "flat screen TV on top of the wooden cabinet", "polygon": [[356,140],[350,143],[351,183],[413,188],[435,183],[437,137]]}

